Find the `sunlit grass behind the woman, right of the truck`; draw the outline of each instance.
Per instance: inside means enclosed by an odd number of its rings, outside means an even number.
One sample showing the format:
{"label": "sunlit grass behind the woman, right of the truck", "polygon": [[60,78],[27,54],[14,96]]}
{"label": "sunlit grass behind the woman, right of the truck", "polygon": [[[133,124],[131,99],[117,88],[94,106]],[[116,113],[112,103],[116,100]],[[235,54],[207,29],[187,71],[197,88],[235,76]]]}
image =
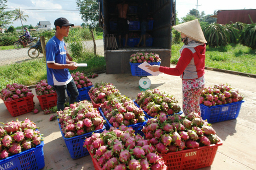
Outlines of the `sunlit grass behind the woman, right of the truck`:
{"label": "sunlit grass behind the woman, right of the truck", "polygon": [[[182,43],[172,45],[170,63],[177,64],[182,45]],[[256,50],[240,44],[228,44],[217,48],[207,46],[205,66],[256,74]]]}

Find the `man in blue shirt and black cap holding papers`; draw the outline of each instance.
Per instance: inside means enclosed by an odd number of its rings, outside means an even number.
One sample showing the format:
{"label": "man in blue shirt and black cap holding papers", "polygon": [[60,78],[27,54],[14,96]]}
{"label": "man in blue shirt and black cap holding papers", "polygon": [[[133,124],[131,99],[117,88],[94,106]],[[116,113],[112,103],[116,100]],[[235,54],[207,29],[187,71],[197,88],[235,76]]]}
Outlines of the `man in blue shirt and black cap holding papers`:
{"label": "man in blue shirt and black cap holding papers", "polygon": [[54,21],[56,28],[55,36],[53,36],[46,45],[46,62],[47,62],[47,80],[48,84],[53,86],[57,92],[57,108],[58,111],[64,110],[64,104],[67,100],[66,90],[70,93],[69,103],[76,102],[79,95],[74,80],[69,72],[77,68],[75,62],[66,59],[67,49],[64,37],[68,37],[70,26],[66,18],[58,18]]}

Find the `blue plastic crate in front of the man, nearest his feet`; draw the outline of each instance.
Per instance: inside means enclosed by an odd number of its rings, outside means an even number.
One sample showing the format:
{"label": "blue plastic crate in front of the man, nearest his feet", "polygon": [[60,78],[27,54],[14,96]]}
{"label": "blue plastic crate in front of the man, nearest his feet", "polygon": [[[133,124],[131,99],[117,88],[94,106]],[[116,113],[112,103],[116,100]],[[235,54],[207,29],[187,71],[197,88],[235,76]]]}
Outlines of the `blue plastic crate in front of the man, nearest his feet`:
{"label": "blue plastic crate in front of the man, nearest his feet", "polygon": [[[58,119],[59,121],[59,119]],[[69,154],[71,156],[72,159],[77,159],[77,158],[81,158],[84,156],[89,155],[89,151],[83,147],[83,143],[84,140],[86,140],[86,137],[90,137],[92,136],[92,133],[101,133],[105,130],[105,126],[103,126],[102,129],[100,130],[96,130],[93,132],[89,132],[89,133],[85,133],[83,135],[78,135],[78,136],[74,136],[71,138],[66,138],[65,134],[62,133],[61,128],[60,128],[60,124],[59,124],[59,129],[60,129],[60,133],[67,145],[67,148],[69,150]]]}

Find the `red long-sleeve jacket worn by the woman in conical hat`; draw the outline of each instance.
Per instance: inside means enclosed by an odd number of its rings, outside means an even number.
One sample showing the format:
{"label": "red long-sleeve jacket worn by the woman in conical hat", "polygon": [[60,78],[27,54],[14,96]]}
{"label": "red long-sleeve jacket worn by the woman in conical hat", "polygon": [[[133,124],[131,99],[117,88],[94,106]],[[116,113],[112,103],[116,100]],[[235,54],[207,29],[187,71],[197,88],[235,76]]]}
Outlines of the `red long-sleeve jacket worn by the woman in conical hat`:
{"label": "red long-sleeve jacket worn by the woman in conical hat", "polygon": [[204,75],[206,45],[183,49],[175,68],[160,66],[159,71],[172,76],[181,76],[182,80],[197,79]]}

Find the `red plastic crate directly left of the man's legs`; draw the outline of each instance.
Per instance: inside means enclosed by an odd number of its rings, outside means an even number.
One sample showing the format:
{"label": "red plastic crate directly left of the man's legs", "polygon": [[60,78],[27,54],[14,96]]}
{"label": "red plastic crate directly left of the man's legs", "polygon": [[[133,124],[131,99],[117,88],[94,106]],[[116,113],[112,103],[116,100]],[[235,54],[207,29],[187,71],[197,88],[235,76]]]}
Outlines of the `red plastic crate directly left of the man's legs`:
{"label": "red plastic crate directly left of the man's legs", "polygon": [[42,110],[51,109],[57,105],[57,93],[37,95]]}

